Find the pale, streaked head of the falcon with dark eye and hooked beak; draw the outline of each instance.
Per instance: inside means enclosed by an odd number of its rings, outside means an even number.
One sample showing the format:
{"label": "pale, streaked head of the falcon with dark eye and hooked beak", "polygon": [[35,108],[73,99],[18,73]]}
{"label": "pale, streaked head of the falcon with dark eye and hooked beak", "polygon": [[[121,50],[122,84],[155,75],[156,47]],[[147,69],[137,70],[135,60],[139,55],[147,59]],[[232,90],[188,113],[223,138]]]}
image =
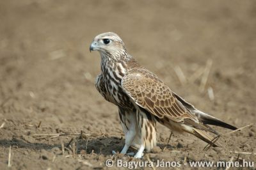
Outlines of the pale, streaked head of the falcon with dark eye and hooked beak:
{"label": "pale, streaked head of the falcon with dark eye and hooked beak", "polygon": [[122,39],[111,32],[95,36],[90,45],[90,52],[92,50],[98,50],[101,56],[106,56],[106,54],[108,54],[108,56],[118,57],[127,54]]}

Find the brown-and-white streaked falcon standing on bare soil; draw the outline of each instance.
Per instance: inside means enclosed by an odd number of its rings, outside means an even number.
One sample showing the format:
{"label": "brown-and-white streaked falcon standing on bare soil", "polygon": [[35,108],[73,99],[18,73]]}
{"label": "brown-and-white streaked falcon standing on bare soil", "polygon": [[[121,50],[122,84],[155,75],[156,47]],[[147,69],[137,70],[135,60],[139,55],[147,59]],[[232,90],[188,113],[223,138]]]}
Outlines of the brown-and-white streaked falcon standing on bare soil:
{"label": "brown-and-white streaked falcon standing on bare soil", "polygon": [[209,125],[237,128],[196,109],[174,93],[157,75],[141,66],[125,49],[115,33],[95,36],[90,51],[101,57],[101,73],[95,86],[99,93],[118,107],[125,134],[127,153],[130,146],[138,148],[134,157],[141,158],[157,143],[156,122],[178,132],[188,132],[213,146],[220,146],[208,132],[218,134]]}

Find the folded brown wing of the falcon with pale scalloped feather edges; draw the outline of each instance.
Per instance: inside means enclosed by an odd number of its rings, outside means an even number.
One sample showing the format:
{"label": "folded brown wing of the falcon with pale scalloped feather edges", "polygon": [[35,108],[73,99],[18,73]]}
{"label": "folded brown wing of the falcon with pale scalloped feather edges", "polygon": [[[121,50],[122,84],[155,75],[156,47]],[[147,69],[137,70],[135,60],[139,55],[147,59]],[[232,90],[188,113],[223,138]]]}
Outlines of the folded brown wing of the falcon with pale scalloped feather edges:
{"label": "folded brown wing of the falcon with pale scalloped feather edges", "polygon": [[189,119],[198,123],[198,119],[173,96],[168,86],[147,73],[126,75],[122,79],[122,88],[136,104],[158,118],[165,116],[177,122]]}

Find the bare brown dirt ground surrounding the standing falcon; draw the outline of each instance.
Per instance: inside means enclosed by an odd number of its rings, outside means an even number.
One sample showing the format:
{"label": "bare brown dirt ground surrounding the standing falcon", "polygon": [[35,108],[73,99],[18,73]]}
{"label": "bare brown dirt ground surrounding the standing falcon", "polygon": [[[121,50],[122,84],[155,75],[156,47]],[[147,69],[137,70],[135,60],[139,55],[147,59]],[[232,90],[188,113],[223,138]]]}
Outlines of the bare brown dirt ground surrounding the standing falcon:
{"label": "bare brown dirt ground surrounding the standing falcon", "polygon": [[[100,57],[89,46],[107,31],[198,109],[236,127],[255,123],[255,18],[255,1],[0,1],[0,169],[108,169],[109,158],[132,160],[112,157],[124,134],[117,108],[94,86]],[[204,76],[193,77],[207,61],[202,91]],[[202,151],[206,144],[189,134],[167,144],[170,130],[158,125],[157,147],[143,159],[255,161],[255,125],[216,130],[225,147]]]}

